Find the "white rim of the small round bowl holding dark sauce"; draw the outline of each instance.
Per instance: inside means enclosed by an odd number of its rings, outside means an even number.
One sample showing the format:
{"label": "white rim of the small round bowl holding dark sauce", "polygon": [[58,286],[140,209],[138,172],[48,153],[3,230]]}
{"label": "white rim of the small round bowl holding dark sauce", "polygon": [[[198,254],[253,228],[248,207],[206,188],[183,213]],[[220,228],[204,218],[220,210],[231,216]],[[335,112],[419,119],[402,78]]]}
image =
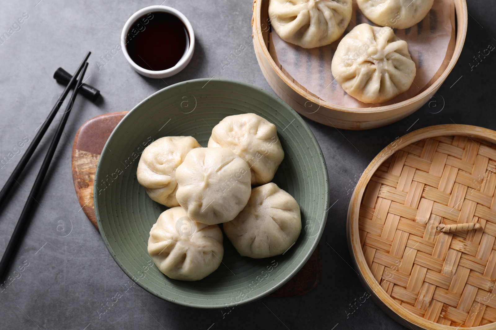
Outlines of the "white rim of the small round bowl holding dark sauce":
{"label": "white rim of the small round bowl holding dark sauce", "polygon": [[[141,16],[143,16],[147,13],[154,12],[154,11],[155,12],[157,12],[157,11],[166,12],[166,13],[170,13],[170,14],[173,14],[174,16],[178,17],[186,26],[186,29],[187,29],[188,34],[189,34],[189,45],[188,45],[188,49],[187,49],[186,53],[183,54],[183,56],[181,57],[179,62],[176,63],[176,65],[174,65],[172,68],[165,69],[165,70],[148,70],[148,69],[145,69],[145,68],[137,65],[129,56],[129,53],[127,52],[127,47],[126,47],[127,43],[125,42],[125,37],[127,35],[127,31],[129,30],[131,25],[134,22],[136,22],[136,20],[138,18],[140,18]],[[141,74],[143,76],[149,77],[149,78],[156,78],[156,79],[167,78],[167,77],[173,76],[173,75],[179,73],[180,71],[182,71],[186,67],[186,65],[188,65],[189,61],[193,57],[193,52],[194,52],[193,27],[191,26],[191,23],[189,23],[189,20],[186,18],[186,16],[181,11],[179,11],[175,8],[172,8],[169,6],[164,6],[164,5],[153,5],[153,6],[144,7],[144,8],[139,9],[138,11],[136,11],[134,14],[132,14],[131,17],[129,17],[127,19],[127,21],[124,23],[124,27],[123,27],[123,30],[121,32],[121,48],[123,50],[125,59],[127,60],[127,62],[129,62],[131,67],[134,69],[134,71],[138,72],[139,74]]]}

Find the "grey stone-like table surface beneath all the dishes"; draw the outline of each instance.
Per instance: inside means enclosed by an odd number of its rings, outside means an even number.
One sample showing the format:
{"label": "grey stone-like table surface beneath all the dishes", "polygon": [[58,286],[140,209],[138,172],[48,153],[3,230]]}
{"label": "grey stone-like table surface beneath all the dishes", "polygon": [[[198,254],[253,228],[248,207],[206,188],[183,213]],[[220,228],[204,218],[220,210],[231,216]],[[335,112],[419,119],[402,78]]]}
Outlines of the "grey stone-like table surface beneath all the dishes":
{"label": "grey stone-like table surface beneath all the dishes", "polygon": [[[74,193],[71,146],[79,126],[108,112],[130,110],[146,96],[194,78],[228,78],[272,92],[258,67],[251,45],[250,0],[165,0],[182,11],[196,34],[194,57],[176,76],[153,80],[135,73],[122,51],[105,66],[101,56],[120,43],[121,29],[136,10],[160,2],[96,0],[16,0],[0,2],[0,33],[23,13],[28,16],[0,45],[0,184],[19,161],[16,144],[32,140],[63,87],[53,78],[59,66],[74,71],[92,51],[86,77],[101,90],[93,104],[79,97],[42,188],[29,229],[12,269],[21,277],[0,289],[0,329],[405,329],[367,299],[354,313],[350,303],[364,295],[350,267],[346,213],[354,183],[372,158],[396,137],[436,124],[471,124],[496,129],[494,101],[496,55],[475,66],[473,56],[496,45],[496,7],[492,1],[469,0],[468,35],[458,63],[429,104],[409,117],[369,131],[336,130],[306,120],[315,134],[329,171],[331,208],[320,241],[322,279],[310,293],[293,298],[264,298],[239,306],[227,315],[163,301],[139,286],[100,315],[102,305],[129,278],[108,253],[97,230],[86,219]],[[224,56],[245,45],[232,64]],[[491,92],[493,91],[493,92]],[[273,92],[272,92],[273,93]],[[492,94],[491,94],[492,93]],[[442,108],[442,111],[439,110]],[[57,122],[58,115],[55,119]],[[53,125],[48,135],[52,135]],[[42,142],[34,161],[0,211],[0,253],[3,253],[28,196],[48,143]],[[24,146],[25,149],[25,146]],[[21,187],[19,187],[21,186]],[[72,231],[59,237],[53,224],[63,217]],[[332,248],[330,247],[332,246]]]}

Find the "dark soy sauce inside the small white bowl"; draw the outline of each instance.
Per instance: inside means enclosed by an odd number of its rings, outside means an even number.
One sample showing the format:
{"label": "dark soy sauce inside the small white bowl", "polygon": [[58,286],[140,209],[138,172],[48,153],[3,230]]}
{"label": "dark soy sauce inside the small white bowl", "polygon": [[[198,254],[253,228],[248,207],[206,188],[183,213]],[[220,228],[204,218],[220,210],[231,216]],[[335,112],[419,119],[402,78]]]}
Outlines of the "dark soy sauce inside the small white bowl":
{"label": "dark soy sauce inside the small white bowl", "polygon": [[160,71],[172,68],[181,60],[189,47],[189,34],[177,16],[154,11],[132,24],[125,42],[134,63]]}

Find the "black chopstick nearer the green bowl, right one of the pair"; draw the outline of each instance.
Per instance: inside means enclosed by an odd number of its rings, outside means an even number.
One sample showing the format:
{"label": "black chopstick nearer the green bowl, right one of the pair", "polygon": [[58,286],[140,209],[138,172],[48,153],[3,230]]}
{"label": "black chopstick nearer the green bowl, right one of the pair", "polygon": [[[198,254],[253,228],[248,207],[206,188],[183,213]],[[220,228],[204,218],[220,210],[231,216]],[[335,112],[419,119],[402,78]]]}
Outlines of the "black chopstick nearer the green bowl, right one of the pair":
{"label": "black chopstick nearer the green bowl, right one of the pair", "polygon": [[[62,136],[62,131],[65,127],[65,123],[67,122],[67,118],[69,117],[70,110],[72,109],[72,105],[74,104],[74,100],[79,91],[79,87],[82,85],[84,73],[86,72],[86,68],[88,67],[88,63],[84,63],[84,67],[82,68],[81,74],[79,75],[79,79],[77,80],[77,85],[74,87],[74,91],[70,96],[70,104],[67,105],[67,111],[62,115],[62,119],[59,123],[59,127],[57,127],[57,131],[55,132],[55,136],[50,143],[50,147],[48,148],[47,155],[43,160],[43,164],[41,165],[40,171],[36,176],[36,180],[34,182],[33,188],[29,193],[28,199],[26,200],[26,204],[24,204],[24,208],[22,209],[21,216],[17,221],[17,225],[15,225],[14,232],[8,241],[7,248],[3,253],[3,257],[0,261],[0,282],[4,279],[5,273],[10,266],[12,261],[12,257],[14,256],[17,247],[22,240],[22,235],[24,234],[27,226],[29,215],[33,210],[33,203],[36,201],[38,197],[38,192],[40,191],[41,185],[43,184],[43,180],[45,179],[45,175],[47,174],[48,168],[50,166],[50,162],[55,154],[55,150],[57,149],[57,144]],[[75,77],[75,75],[74,75]]]}

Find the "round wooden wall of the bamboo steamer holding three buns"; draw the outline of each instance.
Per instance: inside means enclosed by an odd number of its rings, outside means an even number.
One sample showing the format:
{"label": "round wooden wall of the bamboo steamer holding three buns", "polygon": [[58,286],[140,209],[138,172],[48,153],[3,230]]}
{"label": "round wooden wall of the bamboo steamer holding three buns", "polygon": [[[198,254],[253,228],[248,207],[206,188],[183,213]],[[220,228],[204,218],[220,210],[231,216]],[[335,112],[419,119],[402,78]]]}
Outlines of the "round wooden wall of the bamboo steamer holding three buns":
{"label": "round wooden wall of the bamboo steamer holding three buns", "polygon": [[[465,42],[467,34],[467,3],[453,0],[452,38],[446,57],[433,79],[421,93],[405,101],[380,107],[352,108],[325,102],[310,93],[284,70],[273,58],[270,49],[269,0],[253,1],[251,20],[253,46],[262,73],[274,92],[301,115],[327,126],[348,130],[365,130],[394,123],[417,111],[441,87],[453,69]],[[456,22],[455,22],[456,16]]]}

